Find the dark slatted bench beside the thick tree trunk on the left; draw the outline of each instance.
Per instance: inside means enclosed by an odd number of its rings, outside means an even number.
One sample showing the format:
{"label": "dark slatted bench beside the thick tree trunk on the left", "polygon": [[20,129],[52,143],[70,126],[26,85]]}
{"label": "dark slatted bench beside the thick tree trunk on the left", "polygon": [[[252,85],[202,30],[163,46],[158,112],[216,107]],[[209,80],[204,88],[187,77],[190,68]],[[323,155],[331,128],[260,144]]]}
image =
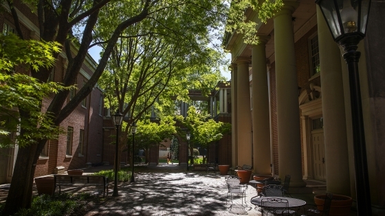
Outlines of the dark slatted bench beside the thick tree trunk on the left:
{"label": "dark slatted bench beside the thick tree trunk on the left", "polygon": [[59,194],[61,194],[62,186],[95,186],[103,187],[103,197],[107,188],[108,195],[108,178],[106,176],[54,175],[54,185],[54,193],[56,187],[59,187]]}

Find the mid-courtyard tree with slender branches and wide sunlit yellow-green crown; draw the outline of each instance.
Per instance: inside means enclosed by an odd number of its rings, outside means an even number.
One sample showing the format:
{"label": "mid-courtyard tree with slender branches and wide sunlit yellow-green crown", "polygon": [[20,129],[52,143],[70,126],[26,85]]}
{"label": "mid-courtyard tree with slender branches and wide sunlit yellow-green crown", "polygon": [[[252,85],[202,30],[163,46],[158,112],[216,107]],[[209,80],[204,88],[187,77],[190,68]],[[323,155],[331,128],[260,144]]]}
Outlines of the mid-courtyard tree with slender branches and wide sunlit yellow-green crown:
{"label": "mid-courtyard tree with slender branches and wide sunlit yellow-green crown", "polygon": [[[111,34],[107,24],[124,19],[113,16],[114,6],[100,10],[97,40],[107,40],[105,36]],[[148,115],[151,109],[156,108],[158,114],[168,110],[162,104],[170,104],[173,95],[186,98],[186,86],[208,92],[220,79],[219,66],[224,56],[208,47],[208,26],[219,25],[221,16],[208,14],[208,8],[190,9],[186,5],[155,12],[151,19],[131,25],[120,34],[98,83],[105,91],[108,106],[130,117],[127,125]],[[192,16],[194,23],[188,19]],[[188,32],[184,30],[187,25]],[[123,130],[127,133],[129,127]],[[127,137],[120,136],[118,158],[126,142]]]}

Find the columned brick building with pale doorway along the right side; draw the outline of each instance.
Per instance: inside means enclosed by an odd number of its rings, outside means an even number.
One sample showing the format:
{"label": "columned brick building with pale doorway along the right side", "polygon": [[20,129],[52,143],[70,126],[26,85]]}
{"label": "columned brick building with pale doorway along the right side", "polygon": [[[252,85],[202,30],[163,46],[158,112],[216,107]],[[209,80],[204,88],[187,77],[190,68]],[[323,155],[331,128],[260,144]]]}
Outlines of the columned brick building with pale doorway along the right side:
{"label": "columned brick building with pale doorway along the right side", "polygon": [[[267,23],[245,11],[257,23],[259,45],[246,45],[236,33],[225,38],[232,54],[232,165],[254,165],[261,176],[291,175],[292,193],[307,192],[304,180],[318,180],[355,200],[347,64],[314,1],[284,3]],[[384,4],[371,4],[358,67],[372,210],[384,215],[385,19]]]}

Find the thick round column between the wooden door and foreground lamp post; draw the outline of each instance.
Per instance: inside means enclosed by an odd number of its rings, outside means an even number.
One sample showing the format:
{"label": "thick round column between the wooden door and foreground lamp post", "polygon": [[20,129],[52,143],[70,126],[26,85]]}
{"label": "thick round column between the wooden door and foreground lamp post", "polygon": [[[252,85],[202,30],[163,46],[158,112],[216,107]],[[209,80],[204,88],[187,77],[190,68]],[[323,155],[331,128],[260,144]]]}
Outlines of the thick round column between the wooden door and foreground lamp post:
{"label": "thick round column between the wooden door and foreground lamp post", "polygon": [[350,195],[349,155],[340,49],[317,5],[327,191]]}

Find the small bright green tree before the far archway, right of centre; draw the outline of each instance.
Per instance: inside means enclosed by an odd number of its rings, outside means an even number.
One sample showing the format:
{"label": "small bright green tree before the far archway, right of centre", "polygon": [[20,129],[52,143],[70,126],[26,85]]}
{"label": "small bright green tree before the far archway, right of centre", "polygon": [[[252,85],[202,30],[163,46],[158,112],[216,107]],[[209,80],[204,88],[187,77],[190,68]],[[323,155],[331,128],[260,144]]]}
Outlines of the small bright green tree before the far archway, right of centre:
{"label": "small bright green tree before the far archway, right of centre", "polygon": [[[208,115],[201,115],[194,106],[188,108],[187,117],[178,116],[177,119],[190,130],[190,152],[193,152],[194,145],[201,145],[208,149],[210,143],[222,139],[223,134],[231,132],[231,124],[215,122],[214,119],[208,119]],[[190,158],[190,163],[194,163]],[[203,156],[203,163],[206,162],[206,156]]]}

